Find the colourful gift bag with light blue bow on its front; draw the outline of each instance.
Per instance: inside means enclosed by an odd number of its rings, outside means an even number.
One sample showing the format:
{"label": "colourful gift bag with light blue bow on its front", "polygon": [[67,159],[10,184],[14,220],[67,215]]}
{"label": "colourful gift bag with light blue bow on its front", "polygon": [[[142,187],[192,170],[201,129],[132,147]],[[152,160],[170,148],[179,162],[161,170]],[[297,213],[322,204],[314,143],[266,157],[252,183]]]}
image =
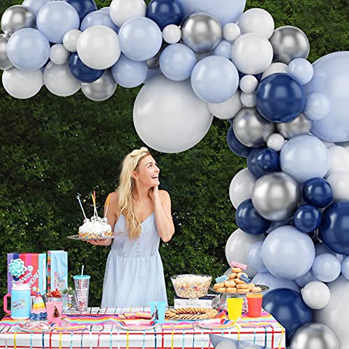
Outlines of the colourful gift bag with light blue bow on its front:
{"label": "colourful gift bag with light blue bow on its front", "polygon": [[8,292],[16,281],[27,283],[33,296],[46,292],[46,253],[8,253],[7,266]]}

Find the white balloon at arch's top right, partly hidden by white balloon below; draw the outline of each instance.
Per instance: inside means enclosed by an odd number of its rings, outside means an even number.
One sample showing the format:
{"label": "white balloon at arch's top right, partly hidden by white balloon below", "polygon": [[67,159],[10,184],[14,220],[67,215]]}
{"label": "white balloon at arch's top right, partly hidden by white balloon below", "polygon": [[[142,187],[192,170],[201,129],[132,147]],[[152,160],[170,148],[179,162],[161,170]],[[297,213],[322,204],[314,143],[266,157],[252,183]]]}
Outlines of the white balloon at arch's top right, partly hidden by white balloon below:
{"label": "white balloon at arch's top right, partly hidden by white balloon below", "polygon": [[251,8],[239,18],[239,27],[242,34],[259,33],[267,39],[274,33],[274,20],[272,15],[262,8]]}

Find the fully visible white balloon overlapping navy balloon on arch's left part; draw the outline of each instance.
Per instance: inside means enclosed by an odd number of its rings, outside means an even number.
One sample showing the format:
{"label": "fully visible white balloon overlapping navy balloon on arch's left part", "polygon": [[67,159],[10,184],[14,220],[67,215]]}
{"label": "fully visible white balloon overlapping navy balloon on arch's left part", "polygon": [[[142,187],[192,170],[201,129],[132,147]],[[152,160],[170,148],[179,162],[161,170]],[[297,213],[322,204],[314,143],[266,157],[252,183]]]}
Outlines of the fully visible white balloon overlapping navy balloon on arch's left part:
{"label": "fully visible white balloon overlapping navy balloon on arch's left part", "polygon": [[77,40],[77,54],[89,68],[110,68],[121,54],[117,33],[103,25],[89,27]]}

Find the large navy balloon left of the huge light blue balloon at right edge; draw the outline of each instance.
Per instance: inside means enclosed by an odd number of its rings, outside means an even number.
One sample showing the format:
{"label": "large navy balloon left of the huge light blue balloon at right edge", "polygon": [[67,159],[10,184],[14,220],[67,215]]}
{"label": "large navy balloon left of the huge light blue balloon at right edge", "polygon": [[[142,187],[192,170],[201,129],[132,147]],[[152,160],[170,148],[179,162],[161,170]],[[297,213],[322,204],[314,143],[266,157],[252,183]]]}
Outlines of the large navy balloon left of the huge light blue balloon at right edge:
{"label": "large navy balloon left of the huge light blue balloon at right edge", "polygon": [[306,105],[304,87],[295,77],[276,73],[263,79],[255,91],[258,112],[271,122],[295,119]]}

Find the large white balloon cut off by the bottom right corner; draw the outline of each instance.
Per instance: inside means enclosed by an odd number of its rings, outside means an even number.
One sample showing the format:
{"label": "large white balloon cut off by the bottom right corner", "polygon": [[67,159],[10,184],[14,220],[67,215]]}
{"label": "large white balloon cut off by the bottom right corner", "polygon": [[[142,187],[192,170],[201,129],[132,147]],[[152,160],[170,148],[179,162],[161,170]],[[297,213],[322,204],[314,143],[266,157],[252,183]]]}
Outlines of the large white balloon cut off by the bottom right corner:
{"label": "large white balloon cut off by the bottom right corner", "polygon": [[331,299],[325,308],[314,311],[314,321],[327,325],[339,339],[341,349],[349,349],[349,281],[339,276],[327,283]]}

